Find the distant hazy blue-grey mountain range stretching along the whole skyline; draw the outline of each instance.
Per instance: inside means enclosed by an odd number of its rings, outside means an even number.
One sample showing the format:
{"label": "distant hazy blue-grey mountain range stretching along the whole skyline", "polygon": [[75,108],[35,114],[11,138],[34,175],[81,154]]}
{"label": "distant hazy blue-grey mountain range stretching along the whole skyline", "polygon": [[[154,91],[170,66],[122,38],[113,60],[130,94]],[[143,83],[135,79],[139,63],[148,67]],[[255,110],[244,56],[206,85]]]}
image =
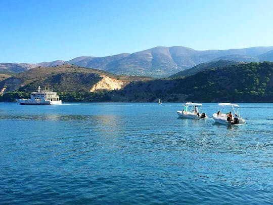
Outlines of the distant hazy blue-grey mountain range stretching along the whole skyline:
{"label": "distant hazy blue-grey mountain range stretching along the whole skyline", "polygon": [[74,64],[101,69],[114,74],[167,77],[200,63],[231,60],[240,62],[273,61],[273,47],[252,47],[230,50],[197,51],[187,47],[155,47],[132,54],[123,53],[106,57],[81,56],[69,61],[30,63],[0,63],[0,72],[23,72],[34,67]]}

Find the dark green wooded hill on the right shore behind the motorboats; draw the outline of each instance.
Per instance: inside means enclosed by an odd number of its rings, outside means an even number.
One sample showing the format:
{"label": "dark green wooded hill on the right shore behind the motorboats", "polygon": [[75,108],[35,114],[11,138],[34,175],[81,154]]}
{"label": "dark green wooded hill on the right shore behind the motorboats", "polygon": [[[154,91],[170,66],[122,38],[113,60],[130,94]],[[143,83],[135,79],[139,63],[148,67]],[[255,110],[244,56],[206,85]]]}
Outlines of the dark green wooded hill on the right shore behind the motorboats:
{"label": "dark green wooded hill on the right shore behind the motorboats", "polygon": [[130,83],[114,96],[136,102],[273,102],[272,73],[272,62],[235,64],[184,78]]}

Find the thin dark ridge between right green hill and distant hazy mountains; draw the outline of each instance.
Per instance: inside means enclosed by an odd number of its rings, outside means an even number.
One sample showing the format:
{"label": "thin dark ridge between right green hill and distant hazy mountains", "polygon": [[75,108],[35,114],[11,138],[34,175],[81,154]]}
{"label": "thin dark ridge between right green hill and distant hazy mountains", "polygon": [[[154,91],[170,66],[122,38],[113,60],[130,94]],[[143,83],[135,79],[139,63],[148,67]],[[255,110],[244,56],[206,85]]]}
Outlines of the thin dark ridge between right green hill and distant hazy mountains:
{"label": "thin dark ridge between right green hill and distant hazy mountains", "polygon": [[234,64],[240,64],[242,62],[238,61],[229,61],[229,60],[218,60],[218,61],[212,61],[209,63],[201,63],[197,66],[194,66],[192,68],[189,68],[187,70],[180,71],[178,73],[175,73],[174,75],[169,76],[170,78],[172,77],[181,77],[181,76],[186,76],[186,75],[194,75],[202,70],[208,69],[208,68],[219,68],[219,67],[224,67],[227,65],[234,65]]}

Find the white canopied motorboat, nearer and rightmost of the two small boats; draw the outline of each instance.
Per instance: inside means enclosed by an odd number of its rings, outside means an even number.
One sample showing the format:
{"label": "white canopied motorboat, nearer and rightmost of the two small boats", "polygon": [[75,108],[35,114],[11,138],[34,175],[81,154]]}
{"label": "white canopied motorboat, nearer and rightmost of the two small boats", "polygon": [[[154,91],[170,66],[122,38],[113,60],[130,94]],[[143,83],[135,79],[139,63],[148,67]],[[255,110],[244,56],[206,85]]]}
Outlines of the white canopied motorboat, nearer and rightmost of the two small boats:
{"label": "white canopied motorboat, nearer and rightmost of the two small boats", "polygon": [[[228,111],[227,113],[225,113]],[[229,112],[233,112],[232,120],[228,121]],[[232,103],[219,103],[218,112],[212,115],[212,118],[223,125],[235,125],[235,124],[246,124],[246,121],[240,116],[239,105]]]}

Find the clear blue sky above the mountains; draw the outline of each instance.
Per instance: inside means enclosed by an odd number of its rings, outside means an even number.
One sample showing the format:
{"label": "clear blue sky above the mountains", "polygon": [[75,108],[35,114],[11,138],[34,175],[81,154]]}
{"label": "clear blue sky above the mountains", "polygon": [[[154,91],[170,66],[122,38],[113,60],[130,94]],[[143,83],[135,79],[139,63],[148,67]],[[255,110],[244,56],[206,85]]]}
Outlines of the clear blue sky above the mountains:
{"label": "clear blue sky above the mountains", "polygon": [[0,0],[0,63],[273,46],[273,1]]}

